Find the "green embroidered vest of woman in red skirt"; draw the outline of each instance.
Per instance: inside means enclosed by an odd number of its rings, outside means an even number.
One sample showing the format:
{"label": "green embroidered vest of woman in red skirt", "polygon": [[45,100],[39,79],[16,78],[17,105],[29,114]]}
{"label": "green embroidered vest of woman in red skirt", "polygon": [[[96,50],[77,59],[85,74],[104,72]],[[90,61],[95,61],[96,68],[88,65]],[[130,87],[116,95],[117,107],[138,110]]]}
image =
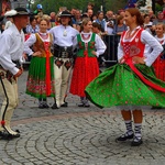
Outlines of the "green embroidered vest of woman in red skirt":
{"label": "green embroidered vest of woman in red skirt", "polygon": [[96,34],[92,33],[90,41],[86,45],[85,42],[81,40],[80,34],[77,35],[77,41],[78,41],[78,46],[79,46],[79,51],[77,53],[78,57],[85,57],[84,55],[85,51],[88,52],[88,57],[96,57],[94,54],[91,54],[91,52],[95,51],[95,37],[96,37]]}

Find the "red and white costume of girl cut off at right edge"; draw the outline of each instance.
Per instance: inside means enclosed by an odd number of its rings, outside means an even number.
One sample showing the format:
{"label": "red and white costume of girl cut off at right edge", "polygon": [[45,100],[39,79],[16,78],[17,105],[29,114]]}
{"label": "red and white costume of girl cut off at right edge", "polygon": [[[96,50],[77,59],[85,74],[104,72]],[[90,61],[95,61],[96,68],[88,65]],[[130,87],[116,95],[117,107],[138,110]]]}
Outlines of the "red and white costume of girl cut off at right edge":
{"label": "red and white costume of girl cut off at right edge", "polygon": [[153,64],[156,77],[163,81],[165,81],[165,34],[162,38],[155,36],[156,40],[164,45],[164,52],[160,54],[156,61]]}

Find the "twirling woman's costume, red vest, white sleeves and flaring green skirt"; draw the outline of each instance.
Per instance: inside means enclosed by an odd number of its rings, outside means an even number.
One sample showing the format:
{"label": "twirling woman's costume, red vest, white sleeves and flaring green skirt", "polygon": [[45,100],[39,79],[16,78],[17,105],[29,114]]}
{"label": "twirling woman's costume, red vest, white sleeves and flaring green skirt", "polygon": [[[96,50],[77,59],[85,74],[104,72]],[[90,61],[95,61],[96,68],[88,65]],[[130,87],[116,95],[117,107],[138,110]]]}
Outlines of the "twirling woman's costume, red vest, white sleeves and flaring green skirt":
{"label": "twirling woman's costume, red vest, white sleeves and flaring green skirt", "polygon": [[[157,79],[150,67],[162,52],[161,44],[148,32],[138,26],[132,37],[121,36],[117,64],[100,74],[87,88],[86,94],[98,107],[118,106],[120,110],[141,109],[141,106],[165,107],[165,84]],[[153,51],[144,54],[145,44]],[[145,56],[145,65],[133,64],[134,56]]]}

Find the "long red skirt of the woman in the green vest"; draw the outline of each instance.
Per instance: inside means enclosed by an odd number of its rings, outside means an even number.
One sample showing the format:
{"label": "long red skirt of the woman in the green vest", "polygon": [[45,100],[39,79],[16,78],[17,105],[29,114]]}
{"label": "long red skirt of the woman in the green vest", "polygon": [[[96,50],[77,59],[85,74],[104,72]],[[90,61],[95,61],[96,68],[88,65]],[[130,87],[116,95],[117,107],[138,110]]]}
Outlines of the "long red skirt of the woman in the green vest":
{"label": "long red skirt of the woman in the green vest", "polygon": [[97,57],[77,57],[73,70],[70,94],[85,97],[85,88],[99,75]]}

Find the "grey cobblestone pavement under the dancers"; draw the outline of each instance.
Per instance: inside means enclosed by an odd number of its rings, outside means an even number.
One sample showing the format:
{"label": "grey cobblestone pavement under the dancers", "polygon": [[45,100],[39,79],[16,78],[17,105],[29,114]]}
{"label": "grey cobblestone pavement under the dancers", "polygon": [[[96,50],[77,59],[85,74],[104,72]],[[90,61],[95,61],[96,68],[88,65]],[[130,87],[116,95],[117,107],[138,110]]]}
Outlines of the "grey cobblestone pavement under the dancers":
{"label": "grey cobblestone pavement under the dancers", "polygon": [[12,118],[21,138],[0,140],[0,165],[165,165],[165,109],[145,108],[144,143],[132,147],[131,141],[116,142],[124,131],[116,108],[78,108],[79,98],[68,95],[68,108],[38,109],[24,94],[26,75],[19,80],[20,105]]}

